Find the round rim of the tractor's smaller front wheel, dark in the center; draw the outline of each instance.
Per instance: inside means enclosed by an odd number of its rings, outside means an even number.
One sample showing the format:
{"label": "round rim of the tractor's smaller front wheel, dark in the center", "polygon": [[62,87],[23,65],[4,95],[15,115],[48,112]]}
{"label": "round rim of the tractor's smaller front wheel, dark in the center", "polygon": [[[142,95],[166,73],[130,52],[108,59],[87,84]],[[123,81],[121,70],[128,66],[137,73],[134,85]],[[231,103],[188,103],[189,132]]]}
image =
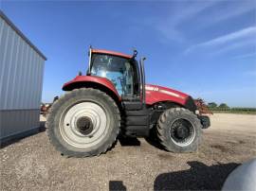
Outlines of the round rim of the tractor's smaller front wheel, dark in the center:
{"label": "round rim of the tractor's smaller front wheel, dark in the center", "polygon": [[183,118],[174,120],[170,128],[170,137],[174,144],[180,147],[192,144],[195,138],[195,129],[192,122]]}

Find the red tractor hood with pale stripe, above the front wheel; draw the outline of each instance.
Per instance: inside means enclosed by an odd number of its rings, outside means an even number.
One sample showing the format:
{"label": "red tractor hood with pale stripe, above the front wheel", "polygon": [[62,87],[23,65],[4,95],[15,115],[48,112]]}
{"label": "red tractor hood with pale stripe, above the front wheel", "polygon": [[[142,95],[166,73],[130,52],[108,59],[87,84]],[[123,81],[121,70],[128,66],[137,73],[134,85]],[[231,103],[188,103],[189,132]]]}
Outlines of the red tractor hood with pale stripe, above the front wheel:
{"label": "red tractor hood with pale stripe, above the front wheel", "polygon": [[176,91],[171,88],[166,88],[158,85],[146,84],[146,104],[152,105],[156,102],[171,101],[185,106],[191,96]]}

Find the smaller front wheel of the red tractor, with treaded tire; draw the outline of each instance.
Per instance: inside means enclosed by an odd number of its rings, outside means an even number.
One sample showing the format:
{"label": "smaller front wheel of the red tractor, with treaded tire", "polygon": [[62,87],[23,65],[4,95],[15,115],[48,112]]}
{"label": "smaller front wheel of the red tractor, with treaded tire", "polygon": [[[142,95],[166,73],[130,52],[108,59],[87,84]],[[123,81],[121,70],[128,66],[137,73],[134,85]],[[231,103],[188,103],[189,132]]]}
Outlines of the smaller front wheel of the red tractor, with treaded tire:
{"label": "smaller front wheel of the red tractor, with treaded tire", "polygon": [[[177,135],[175,135],[174,128],[177,127],[178,129],[179,126],[174,126],[174,124],[177,122],[188,127],[188,137],[175,138]],[[156,131],[161,145],[166,150],[171,152],[193,152],[197,150],[201,141],[202,125],[197,116],[191,111],[184,108],[172,108],[160,115]],[[188,140],[187,145],[186,142],[182,142],[186,140]]]}

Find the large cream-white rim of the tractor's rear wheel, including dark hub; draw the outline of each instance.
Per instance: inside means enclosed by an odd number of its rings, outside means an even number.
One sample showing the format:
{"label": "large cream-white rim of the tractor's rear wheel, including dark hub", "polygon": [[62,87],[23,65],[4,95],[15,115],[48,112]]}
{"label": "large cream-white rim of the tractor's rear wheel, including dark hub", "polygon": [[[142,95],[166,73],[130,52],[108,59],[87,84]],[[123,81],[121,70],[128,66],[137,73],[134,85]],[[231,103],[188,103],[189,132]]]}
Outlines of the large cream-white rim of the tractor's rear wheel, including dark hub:
{"label": "large cream-white rim of the tractor's rear wheel, including dark hub", "polygon": [[59,128],[67,144],[76,148],[90,148],[104,138],[108,121],[106,110],[99,104],[81,102],[65,110]]}

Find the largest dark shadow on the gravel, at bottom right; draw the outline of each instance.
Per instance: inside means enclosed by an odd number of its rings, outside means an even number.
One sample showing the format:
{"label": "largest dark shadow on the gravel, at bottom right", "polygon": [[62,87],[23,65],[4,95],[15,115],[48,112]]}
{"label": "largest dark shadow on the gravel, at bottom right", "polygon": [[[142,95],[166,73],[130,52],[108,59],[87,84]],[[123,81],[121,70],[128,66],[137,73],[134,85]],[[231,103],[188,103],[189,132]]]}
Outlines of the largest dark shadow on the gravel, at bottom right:
{"label": "largest dark shadow on the gravel, at bottom right", "polygon": [[160,174],[154,182],[154,190],[220,190],[229,173],[239,164],[205,165],[188,162],[189,170]]}

